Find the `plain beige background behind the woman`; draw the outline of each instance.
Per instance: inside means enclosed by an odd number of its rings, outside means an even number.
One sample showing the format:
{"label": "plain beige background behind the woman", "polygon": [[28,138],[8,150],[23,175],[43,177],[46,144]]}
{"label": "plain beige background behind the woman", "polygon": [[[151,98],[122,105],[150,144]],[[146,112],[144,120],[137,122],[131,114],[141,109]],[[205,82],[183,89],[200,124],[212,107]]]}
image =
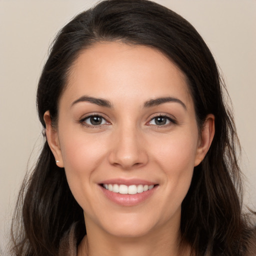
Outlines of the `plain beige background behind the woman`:
{"label": "plain beige background behind the woman", "polygon": [[[156,1],[183,15],[197,28],[224,73],[243,148],[244,201],[256,209],[256,1]],[[95,2],[0,0],[1,251],[6,246],[20,182],[40,150],[35,91],[48,46],[63,24]]]}

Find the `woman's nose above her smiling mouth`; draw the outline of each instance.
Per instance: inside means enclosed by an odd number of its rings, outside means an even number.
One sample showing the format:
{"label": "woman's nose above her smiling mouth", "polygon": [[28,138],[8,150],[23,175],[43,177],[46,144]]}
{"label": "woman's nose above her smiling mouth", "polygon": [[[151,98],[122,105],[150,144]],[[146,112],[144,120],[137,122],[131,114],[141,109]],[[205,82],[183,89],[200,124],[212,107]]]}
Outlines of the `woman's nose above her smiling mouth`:
{"label": "woman's nose above her smiling mouth", "polygon": [[144,166],[148,162],[143,136],[135,127],[125,127],[113,134],[110,164],[128,170]]}

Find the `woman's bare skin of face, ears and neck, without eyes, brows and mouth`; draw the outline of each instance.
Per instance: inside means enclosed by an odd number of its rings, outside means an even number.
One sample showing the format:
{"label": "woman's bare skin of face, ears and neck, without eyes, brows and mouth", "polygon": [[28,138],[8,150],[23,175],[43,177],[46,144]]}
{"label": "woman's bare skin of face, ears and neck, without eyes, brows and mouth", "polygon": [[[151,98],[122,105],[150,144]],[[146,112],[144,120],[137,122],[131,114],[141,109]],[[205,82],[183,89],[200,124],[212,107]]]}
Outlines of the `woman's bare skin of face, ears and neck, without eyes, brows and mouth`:
{"label": "woman's bare skin of face, ears and neck, without eyes, brows and mouth", "polygon": [[[84,95],[108,100],[111,107],[74,103]],[[158,97],[180,102],[144,106]],[[89,114],[101,115],[102,124],[93,126],[84,119]],[[162,117],[166,123],[159,125],[156,115],[170,119]],[[214,116],[206,117],[198,134],[184,75],[167,57],[146,46],[94,44],[72,65],[57,127],[51,126],[48,111],[44,120],[57,165],[65,168],[70,190],[84,211],[87,236],[78,255],[180,253],[181,202],[193,167],[212,141]],[[157,186],[146,200],[123,206],[102,193],[98,183],[110,178],[140,178]]]}

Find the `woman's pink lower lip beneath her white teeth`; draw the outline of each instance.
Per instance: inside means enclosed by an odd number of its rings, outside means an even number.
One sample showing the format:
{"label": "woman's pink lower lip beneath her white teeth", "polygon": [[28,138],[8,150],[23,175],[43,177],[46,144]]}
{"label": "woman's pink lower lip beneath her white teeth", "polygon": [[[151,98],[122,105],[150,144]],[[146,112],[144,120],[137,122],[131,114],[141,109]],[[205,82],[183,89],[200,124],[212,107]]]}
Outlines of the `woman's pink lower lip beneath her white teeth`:
{"label": "woman's pink lower lip beneath her white teeth", "polygon": [[156,187],[157,185],[154,185],[152,189],[144,191],[142,193],[120,194],[120,193],[109,191],[104,187],[100,186],[104,195],[108,199],[110,199],[112,202],[116,204],[123,205],[123,206],[133,206],[145,201],[148,197],[150,197],[155,192]]}

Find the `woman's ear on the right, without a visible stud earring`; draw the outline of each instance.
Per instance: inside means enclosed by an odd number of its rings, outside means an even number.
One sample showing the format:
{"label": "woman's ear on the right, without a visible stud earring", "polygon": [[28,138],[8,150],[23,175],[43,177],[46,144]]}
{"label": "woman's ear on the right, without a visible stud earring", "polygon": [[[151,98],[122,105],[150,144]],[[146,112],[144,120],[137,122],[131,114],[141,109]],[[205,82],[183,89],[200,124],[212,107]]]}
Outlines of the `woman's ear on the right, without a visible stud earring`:
{"label": "woman's ear on the right, without a visible stud earring", "polygon": [[214,115],[208,114],[203,123],[201,134],[198,139],[194,166],[198,165],[207,153],[215,132]]}

